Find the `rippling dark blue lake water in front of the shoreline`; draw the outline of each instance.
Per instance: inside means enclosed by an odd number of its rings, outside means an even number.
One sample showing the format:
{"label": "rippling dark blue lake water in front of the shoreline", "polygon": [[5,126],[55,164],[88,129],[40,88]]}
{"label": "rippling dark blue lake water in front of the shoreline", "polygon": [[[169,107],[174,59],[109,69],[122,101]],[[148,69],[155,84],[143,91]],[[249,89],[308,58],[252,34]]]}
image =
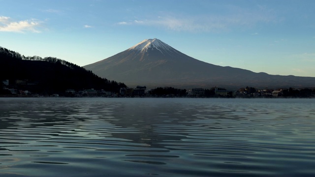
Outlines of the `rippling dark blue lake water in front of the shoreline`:
{"label": "rippling dark blue lake water in front of the shoreline", "polygon": [[0,177],[314,177],[315,99],[0,98]]}

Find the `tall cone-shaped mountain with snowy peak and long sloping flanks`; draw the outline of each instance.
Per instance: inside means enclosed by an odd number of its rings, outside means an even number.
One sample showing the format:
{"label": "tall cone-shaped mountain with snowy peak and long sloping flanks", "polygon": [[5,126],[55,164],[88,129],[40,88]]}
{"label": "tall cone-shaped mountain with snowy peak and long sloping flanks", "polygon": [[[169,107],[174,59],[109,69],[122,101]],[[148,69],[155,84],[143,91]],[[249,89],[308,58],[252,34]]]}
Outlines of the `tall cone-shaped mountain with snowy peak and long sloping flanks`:
{"label": "tall cone-shaped mountain with snowy peak and long sloping flanks", "polygon": [[314,77],[255,73],[193,59],[158,39],[146,39],[107,59],[83,66],[96,75],[128,86],[282,88],[315,87]]}

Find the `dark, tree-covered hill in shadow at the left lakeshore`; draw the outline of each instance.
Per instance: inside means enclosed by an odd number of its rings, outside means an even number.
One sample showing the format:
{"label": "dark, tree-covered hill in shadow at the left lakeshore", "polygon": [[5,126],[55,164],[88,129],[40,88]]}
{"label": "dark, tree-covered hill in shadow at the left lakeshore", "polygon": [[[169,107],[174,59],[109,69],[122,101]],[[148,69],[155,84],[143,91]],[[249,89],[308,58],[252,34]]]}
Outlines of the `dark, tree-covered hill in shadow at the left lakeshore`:
{"label": "dark, tree-covered hill in shadow at the left lakeshore", "polygon": [[[66,89],[104,89],[119,92],[125,84],[96,76],[83,67],[62,59],[24,57],[0,47],[0,85],[9,80],[10,88],[29,90],[40,94],[59,93]],[[23,81],[24,84],[16,84]],[[2,87],[0,87],[1,92]]]}

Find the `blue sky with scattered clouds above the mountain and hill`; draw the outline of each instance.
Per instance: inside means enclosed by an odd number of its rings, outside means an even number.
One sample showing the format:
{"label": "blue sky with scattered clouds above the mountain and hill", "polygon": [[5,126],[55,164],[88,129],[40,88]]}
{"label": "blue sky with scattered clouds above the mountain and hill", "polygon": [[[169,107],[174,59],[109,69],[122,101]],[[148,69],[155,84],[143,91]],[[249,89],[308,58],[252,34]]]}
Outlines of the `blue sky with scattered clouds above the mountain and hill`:
{"label": "blue sky with scattered clouds above the mountain and hill", "polygon": [[158,38],[208,63],[315,77],[315,0],[0,0],[0,46],[80,66]]}

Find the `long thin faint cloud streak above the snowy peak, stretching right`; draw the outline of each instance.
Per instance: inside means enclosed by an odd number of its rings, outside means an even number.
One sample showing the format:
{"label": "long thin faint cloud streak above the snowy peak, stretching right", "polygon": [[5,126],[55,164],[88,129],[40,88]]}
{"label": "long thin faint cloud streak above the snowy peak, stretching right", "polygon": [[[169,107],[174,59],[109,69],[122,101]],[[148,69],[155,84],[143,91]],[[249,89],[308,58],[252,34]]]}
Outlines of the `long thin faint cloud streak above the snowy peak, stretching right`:
{"label": "long thin faint cloud streak above the snowy peak, stretching right", "polygon": [[[251,27],[256,23],[275,22],[275,17],[267,12],[243,12],[231,15],[178,16],[165,15],[150,19],[137,19],[119,22],[117,25],[155,26],[175,31],[221,31],[233,27]],[[253,33],[252,35],[257,35]]]}

